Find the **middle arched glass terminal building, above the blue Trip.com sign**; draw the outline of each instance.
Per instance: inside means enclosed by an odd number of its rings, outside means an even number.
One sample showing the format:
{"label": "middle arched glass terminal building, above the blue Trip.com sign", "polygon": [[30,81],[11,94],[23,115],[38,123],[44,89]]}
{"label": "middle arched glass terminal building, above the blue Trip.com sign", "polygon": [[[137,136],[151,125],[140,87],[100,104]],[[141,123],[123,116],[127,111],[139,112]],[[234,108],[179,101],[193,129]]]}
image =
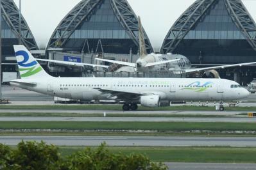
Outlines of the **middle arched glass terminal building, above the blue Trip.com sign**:
{"label": "middle arched glass terminal building, above the blue Trip.com sign", "polygon": [[[47,45],[49,59],[66,61],[72,58],[84,63],[96,63],[94,58],[135,62],[139,57],[137,16],[126,0],[81,1],[56,27]],[[146,49],[153,47],[144,31]],[[57,72],[80,72],[77,68]]]}

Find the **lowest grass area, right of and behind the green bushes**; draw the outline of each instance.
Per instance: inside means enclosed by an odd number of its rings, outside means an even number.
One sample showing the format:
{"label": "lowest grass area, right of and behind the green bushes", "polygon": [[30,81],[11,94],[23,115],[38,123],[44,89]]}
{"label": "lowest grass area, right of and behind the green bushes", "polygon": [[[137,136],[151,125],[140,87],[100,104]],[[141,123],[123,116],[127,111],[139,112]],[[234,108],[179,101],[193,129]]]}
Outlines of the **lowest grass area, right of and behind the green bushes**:
{"label": "lowest grass area, right of and behind the green bushes", "polygon": [[[80,151],[81,147],[60,147],[62,156]],[[256,163],[256,148],[225,147],[110,147],[114,153],[142,153],[155,162]]]}

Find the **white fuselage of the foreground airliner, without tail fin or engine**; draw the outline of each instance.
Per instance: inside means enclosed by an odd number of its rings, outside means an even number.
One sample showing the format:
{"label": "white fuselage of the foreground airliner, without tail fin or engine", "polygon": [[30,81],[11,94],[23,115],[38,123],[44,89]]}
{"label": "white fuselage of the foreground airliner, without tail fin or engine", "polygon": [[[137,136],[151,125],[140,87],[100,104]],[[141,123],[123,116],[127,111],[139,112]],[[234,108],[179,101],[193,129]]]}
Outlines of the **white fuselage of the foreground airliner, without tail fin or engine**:
{"label": "white fuselage of the foreground airliner, without tail fin or engine", "polygon": [[[23,80],[19,80],[23,81]],[[57,78],[26,79],[37,86],[12,83],[24,89],[62,98],[101,100],[113,98],[99,89],[159,95],[161,100],[239,100],[246,89],[232,89],[225,79],[152,79],[152,78]],[[97,89],[98,88],[98,89]]]}

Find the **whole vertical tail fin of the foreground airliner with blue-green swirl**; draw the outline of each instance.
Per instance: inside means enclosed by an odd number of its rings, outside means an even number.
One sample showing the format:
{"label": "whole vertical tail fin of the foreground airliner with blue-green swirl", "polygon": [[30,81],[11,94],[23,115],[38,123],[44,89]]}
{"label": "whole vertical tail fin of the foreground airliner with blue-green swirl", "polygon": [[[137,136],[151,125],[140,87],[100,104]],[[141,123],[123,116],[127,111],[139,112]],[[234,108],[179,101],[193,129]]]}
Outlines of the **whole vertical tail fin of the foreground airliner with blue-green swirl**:
{"label": "whole vertical tail fin of the foreground airliner with blue-green swirl", "polygon": [[51,77],[24,45],[13,45],[21,79]]}

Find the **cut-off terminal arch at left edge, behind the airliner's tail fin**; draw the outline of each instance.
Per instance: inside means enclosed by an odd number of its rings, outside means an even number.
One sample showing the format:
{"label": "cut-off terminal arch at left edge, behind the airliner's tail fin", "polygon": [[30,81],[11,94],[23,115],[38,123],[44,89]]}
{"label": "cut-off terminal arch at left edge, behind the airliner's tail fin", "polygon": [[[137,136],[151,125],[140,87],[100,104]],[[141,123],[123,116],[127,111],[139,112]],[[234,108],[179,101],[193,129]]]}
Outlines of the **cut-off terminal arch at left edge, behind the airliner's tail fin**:
{"label": "cut-off terminal arch at left edge, behind the airliner's tail fin", "polygon": [[37,43],[33,37],[24,17],[21,16],[21,37],[19,34],[19,9],[13,0],[2,0],[2,66],[3,72],[15,72],[15,63],[17,63],[13,45],[25,45],[29,50],[38,50]]}

